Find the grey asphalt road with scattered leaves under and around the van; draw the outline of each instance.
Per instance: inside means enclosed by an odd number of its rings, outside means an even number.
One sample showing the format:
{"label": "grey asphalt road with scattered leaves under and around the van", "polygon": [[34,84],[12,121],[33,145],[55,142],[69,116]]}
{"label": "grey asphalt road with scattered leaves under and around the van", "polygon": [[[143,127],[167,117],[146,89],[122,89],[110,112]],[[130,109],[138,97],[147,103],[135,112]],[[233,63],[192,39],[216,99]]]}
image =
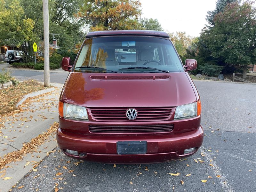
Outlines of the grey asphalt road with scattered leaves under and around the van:
{"label": "grey asphalt road with scattered leaves under and around the van", "polygon": [[[61,79],[63,74],[52,76]],[[214,81],[195,81],[195,84],[202,100],[201,124],[205,133],[203,146],[195,155],[160,164],[113,167],[113,164],[82,162],[76,166],[74,163],[78,160],[64,156],[57,148],[41,162],[37,172],[25,175],[12,191],[36,191],[37,188],[54,191],[55,183],[63,192],[256,191],[256,84]],[[205,156],[201,156],[201,152]],[[62,174],[56,176],[58,172]],[[179,176],[167,174],[177,172]]]}

